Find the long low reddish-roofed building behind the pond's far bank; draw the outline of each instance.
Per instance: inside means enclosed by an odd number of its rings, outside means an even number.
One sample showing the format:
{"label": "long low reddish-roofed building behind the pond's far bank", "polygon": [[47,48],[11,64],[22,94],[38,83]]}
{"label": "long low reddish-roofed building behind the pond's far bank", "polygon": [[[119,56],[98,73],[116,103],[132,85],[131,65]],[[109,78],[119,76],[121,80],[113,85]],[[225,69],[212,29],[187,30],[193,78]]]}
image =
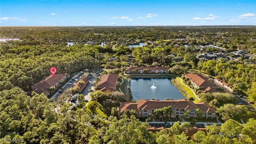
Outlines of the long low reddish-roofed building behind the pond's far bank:
{"label": "long low reddish-roofed building behind the pond's far bank", "polygon": [[167,73],[168,68],[162,66],[138,66],[138,67],[127,67],[126,74],[138,73],[143,74],[143,70],[148,69],[148,73]]}

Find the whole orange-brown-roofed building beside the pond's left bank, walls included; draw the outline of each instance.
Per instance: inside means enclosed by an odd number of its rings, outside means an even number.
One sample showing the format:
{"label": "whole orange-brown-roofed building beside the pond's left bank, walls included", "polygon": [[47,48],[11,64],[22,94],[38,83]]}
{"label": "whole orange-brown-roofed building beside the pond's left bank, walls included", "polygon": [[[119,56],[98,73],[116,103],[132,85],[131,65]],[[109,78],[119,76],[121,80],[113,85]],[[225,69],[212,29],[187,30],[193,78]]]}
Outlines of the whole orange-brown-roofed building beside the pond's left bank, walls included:
{"label": "whole orange-brown-roofed building beside the pond's left bank, walls included", "polygon": [[98,90],[105,91],[116,91],[116,82],[118,74],[103,74],[100,77],[100,81],[96,84]]}

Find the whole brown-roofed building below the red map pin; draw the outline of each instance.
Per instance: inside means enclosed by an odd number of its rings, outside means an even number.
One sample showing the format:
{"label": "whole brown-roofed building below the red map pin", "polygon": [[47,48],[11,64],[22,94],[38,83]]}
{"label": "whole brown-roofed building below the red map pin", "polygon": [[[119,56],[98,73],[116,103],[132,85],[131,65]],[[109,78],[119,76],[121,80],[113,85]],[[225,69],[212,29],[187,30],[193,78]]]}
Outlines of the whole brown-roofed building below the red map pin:
{"label": "whole brown-roofed building below the red map pin", "polygon": [[44,93],[46,96],[50,95],[50,87],[57,87],[60,84],[61,80],[66,80],[67,74],[55,74],[54,77],[52,75],[44,78],[40,82],[34,84],[32,86],[32,90],[28,91],[28,93],[32,93],[32,91],[36,92],[37,94]]}

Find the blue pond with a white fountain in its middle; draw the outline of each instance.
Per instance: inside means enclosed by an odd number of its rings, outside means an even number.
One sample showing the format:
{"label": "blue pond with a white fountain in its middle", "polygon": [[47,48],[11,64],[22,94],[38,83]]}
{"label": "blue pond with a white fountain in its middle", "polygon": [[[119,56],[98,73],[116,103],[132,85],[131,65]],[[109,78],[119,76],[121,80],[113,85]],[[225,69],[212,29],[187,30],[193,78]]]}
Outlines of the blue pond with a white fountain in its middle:
{"label": "blue pond with a white fountain in its middle", "polygon": [[[152,85],[156,89],[150,88]],[[133,100],[157,98],[164,100],[172,98],[173,100],[185,99],[180,91],[172,84],[170,78],[132,78],[131,91]]]}

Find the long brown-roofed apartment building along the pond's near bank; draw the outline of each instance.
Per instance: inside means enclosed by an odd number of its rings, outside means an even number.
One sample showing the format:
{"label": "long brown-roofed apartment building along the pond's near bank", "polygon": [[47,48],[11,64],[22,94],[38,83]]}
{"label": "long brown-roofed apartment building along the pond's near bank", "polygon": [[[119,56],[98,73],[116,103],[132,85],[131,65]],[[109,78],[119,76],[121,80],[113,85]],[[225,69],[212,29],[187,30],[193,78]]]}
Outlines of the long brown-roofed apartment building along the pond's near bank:
{"label": "long brown-roofed apartment building along the pond's near bank", "polygon": [[154,118],[154,110],[157,108],[172,107],[172,114],[168,116],[172,118],[183,118],[185,112],[189,111],[186,118],[195,118],[196,110],[200,109],[203,112],[203,117],[216,117],[215,110],[206,102],[194,103],[192,100],[137,100],[137,103],[122,102],[119,106],[119,111],[123,113],[125,110],[136,110],[139,118]]}

